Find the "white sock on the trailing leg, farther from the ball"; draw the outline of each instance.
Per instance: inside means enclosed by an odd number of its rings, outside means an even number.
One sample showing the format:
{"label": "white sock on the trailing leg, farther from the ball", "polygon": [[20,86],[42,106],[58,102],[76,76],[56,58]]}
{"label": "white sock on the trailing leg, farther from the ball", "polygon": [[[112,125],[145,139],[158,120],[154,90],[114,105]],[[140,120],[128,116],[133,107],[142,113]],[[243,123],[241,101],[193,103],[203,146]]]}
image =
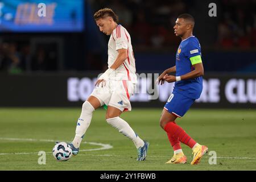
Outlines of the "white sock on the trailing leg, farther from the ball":
{"label": "white sock on the trailing leg, farther from the ball", "polygon": [[137,148],[144,146],[144,142],[139,136],[131,129],[130,125],[122,118],[115,117],[106,119],[109,125],[112,125],[120,133],[133,140]]}

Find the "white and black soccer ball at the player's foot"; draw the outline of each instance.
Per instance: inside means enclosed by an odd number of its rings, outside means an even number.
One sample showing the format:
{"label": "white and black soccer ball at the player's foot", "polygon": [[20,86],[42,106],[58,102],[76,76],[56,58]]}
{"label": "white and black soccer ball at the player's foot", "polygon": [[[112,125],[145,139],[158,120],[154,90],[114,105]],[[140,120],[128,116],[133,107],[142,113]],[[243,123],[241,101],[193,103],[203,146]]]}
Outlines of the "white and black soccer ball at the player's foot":
{"label": "white and black soccer ball at the player's foot", "polygon": [[52,155],[57,161],[67,161],[72,156],[72,148],[66,142],[57,143],[52,149]]}

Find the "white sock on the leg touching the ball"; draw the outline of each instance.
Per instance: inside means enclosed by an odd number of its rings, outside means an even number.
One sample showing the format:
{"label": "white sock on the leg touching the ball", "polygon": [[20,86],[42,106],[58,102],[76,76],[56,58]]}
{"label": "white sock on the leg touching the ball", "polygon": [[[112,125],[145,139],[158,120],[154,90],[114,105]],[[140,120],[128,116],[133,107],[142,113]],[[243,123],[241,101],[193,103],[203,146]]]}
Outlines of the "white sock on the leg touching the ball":
{"label": "white sock on the leg touching the ball", "polygon": [[90,125],[93,111],[94,111],[94,107],[90,104],[90,102],[85,101],[84,104],[82,104],[82,112],[77,121],[77,126],[76,126],[76,135],[72,142],[72,144],[76,148],[80,146],[82,142],[82,138],[84,138],[84,134]]}

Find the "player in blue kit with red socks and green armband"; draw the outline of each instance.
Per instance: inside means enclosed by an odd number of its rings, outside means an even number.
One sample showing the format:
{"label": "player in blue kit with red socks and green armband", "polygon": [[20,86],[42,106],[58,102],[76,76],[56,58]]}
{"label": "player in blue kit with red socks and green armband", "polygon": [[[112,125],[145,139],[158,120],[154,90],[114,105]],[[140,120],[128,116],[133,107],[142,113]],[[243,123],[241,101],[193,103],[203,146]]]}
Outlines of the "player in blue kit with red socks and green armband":
{"label": "player in blue kit with red socks and green armband", "polygon": [[[197,143],[175,123],[175,119],[183,117],[193,102],[200,97],[203,90],[204,67],[199,40],[193,36],[194,26],[195,20],[191,15],[181,14],[178,16],[174,33],[176,36],[180,36],[181,43],[176,53],[176,65],[166,69],[157,80],[160,85],[164,81],[175,82],[174,90],[168,98],[160,118],[160,126],[166,131],[174,149],[174,156],[167,164],[187,162],[180,142],[192,148],[191,164],[200,163],[201,157],[208,151],[207,146]],[[176,76],[168,75],[173,72],[176,72]]]}

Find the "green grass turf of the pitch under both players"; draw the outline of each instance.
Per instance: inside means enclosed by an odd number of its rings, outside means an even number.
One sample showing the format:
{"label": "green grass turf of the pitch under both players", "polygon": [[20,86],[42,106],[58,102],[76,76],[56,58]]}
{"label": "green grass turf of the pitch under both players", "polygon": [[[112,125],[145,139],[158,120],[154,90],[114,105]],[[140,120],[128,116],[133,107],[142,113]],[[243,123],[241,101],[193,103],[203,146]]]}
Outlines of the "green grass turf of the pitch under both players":
{"label": "green grass turf of the pitch under both players", "polygon": [[[134,108],[122,114],[135,132],[150,142],[144,162],[136,161],[137,150],[133,142],[105,122],[103,109],[94,112],[84,140],[110,144],[113,148],[84,151],[67,162],[57,162],[51,154],[52,142],[6,138],[71,141],[80,108],[0,108],[0,170],[256,170],[256,110],[191,109],[177,119],[177,124],[191,137],[217,153],[216,165],[210,165],[210,156],[205,155],[197,166],[190,165],[191,149],[184,145],[188,164],[164,164],[173,152],[166,133],[159,127],[161,111]],[[82,144],[80,148],[100,146]],[[46,165],[38,164],[39,151],[48,152]],[[10,154],[20,152],[30,154]]]}

